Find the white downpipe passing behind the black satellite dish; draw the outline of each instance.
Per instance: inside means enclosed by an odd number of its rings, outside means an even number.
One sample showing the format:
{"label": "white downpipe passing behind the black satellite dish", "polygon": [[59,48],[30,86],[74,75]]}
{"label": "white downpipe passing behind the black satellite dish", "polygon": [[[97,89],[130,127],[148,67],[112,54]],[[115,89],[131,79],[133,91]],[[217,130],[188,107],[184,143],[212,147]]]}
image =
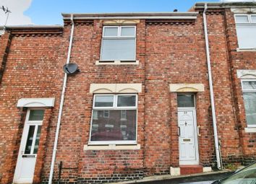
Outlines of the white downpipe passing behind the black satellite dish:
{"label": "white downpipe passing behind the black satellite dish", "polygon": [[[68,55],[67,55],[67,64],[70,61],[72,41],[73,41],[73,35],[74,35],[73,14],[71,14],[70,20],[72,22],[72,27],[71,27],[70,40],[69,40],[69,51],[68,51]],[[54,163],[55,163],[57,144],[58,144],[58,138],[59,138],[59,128],[61,125],[62,108],[64,105],[65,91],[66,91],[66,87],[67,87],[66,85],[67,85],[67,73],[64,74],[64,82],[63,82],[63,87],[62,87],[62,92],[61,92],[61,103],[59,105],[59,115],[58,115],[58,122],[57,122],[56,133],[55,133],[54,149],[53,149],[53,155],[52,155],[52,159],[51,159],[51,170],[50,170],[48,184],[52,183],[53,174],[54,174]]]}

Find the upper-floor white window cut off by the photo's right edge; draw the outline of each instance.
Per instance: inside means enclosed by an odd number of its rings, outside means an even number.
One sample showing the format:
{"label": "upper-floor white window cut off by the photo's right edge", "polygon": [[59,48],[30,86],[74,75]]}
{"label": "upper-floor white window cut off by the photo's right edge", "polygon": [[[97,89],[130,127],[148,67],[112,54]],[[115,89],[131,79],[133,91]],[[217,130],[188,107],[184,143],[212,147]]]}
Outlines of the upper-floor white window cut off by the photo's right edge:
{"label": "upper-floor white window cut off by the photo's right edge", "polygon": [[256,48],[256,14],[236,14],[239,48]]}

